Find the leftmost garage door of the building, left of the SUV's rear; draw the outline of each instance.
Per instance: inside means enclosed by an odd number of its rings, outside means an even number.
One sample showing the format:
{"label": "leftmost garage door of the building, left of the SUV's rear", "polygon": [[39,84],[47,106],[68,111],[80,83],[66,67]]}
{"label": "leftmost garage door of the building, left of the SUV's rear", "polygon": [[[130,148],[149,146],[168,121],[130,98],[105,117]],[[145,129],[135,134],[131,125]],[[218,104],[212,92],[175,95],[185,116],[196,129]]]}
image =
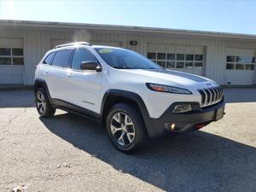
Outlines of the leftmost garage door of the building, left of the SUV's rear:
{"label": "leftmost garage door of the building, left of the SUV's rear", "polygon": [[0,84],[23,84],[22,38],[0,38]]}

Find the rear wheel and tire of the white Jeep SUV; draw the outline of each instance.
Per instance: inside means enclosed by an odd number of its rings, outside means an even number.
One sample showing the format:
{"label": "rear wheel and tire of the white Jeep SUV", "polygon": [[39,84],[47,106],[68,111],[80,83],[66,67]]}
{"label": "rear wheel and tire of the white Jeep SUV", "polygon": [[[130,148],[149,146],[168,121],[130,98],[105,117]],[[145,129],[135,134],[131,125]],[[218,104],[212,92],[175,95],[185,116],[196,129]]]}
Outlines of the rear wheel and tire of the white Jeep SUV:
{"label": "rear wheel and tire of the white Jeep SUV", "polygon": [[55,114],[55,108],[51,106],[44,88],[38,88],[35,102],[41,117],[48,118]]}

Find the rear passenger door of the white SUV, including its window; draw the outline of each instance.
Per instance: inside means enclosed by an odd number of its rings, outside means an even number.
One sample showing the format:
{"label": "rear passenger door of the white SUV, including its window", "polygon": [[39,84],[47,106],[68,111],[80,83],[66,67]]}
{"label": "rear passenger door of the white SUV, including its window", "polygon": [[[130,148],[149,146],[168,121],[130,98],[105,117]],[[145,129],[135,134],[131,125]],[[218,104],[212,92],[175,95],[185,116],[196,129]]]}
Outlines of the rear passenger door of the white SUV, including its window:
{"label": "rear passenger door of the white SUV, including its window", "polygon": [[47,73],[46,83],[52,98],[67,102],[69,87],[67,80],[69,79],[68,71],[70,70],[70,59],[73,49],[62,49],[55,53],[52,65],[45,68]]}

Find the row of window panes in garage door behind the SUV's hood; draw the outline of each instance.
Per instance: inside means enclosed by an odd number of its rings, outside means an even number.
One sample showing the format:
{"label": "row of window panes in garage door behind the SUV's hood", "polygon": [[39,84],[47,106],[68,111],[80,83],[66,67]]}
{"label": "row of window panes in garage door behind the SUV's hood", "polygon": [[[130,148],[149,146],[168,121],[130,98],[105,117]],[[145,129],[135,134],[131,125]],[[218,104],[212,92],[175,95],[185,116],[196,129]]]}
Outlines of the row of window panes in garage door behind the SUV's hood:
{"label": "row of window panes in garage door behind the SUV's hood", "polygon": [[164,68],[202,68],[203,55],[148,52],[148,59]]}

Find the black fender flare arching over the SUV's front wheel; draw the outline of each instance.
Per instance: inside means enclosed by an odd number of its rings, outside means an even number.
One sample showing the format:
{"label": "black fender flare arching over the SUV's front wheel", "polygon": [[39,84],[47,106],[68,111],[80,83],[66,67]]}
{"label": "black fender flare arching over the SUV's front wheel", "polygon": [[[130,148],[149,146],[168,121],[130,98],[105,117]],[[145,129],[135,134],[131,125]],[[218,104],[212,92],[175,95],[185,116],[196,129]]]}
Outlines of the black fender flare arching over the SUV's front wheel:
{"label": "black fender flare arching over the SUV's front wheel", "polygon": [[139,108],[140,112],[142,113],[143,116],[143,121],[144,124],[146,125],[146,130],[148,132],[148,136],[150,137],[151,134],[151,119],[148,113],[148,109],[146,108],[145,103],[143,102],[143,99],[141,96],[139,96],[137,93],[131,92],[131,91],[127,91],[127,90],[107,90],[106,93],[104,94],[103,98],[102,98],[102,107],[101,107],[101,119],[103,118],[104,115],[104,109],[106,107],[106,102],[109,96],[121,96],[121,97],[125,97],[129,100],[132,100],[133,102],[137,103],[137,107]]}

